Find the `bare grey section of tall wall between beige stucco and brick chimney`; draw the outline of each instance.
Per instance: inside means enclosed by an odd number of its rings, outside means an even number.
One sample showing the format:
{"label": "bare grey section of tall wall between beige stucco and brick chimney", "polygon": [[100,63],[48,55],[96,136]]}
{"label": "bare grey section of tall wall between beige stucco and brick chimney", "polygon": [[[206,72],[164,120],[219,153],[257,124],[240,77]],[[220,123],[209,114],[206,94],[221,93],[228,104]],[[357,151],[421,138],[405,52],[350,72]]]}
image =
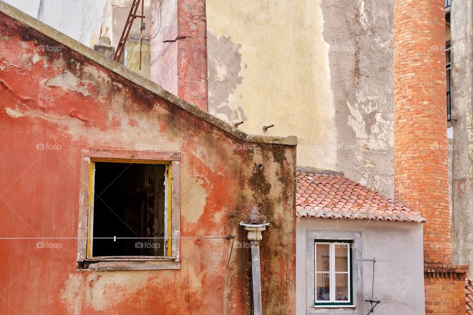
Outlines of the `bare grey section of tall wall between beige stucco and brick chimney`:
{"label": "bare grey section of tall wall between beige stucco and brick chimney", "polygon": [[319,3],[330,45],[337,170],[393,198],[393,2]]}

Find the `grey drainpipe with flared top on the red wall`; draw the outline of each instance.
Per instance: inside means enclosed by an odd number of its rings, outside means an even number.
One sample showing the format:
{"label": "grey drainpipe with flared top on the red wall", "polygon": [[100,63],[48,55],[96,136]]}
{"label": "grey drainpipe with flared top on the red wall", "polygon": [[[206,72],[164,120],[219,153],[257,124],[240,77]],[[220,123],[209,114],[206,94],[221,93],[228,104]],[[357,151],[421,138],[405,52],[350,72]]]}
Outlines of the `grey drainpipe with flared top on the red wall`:
{"label": "grey drainpipe with flared top on the red wall", "polygon": [[270,223],[246,224],[240,222],[240,225],[248,231],[248,241],[251,247],[251,278],[253,280],[253,315],[262,315],[263,307],[261,305],[261,268],[260,268],[260,241],[263,239],[262,231]]}

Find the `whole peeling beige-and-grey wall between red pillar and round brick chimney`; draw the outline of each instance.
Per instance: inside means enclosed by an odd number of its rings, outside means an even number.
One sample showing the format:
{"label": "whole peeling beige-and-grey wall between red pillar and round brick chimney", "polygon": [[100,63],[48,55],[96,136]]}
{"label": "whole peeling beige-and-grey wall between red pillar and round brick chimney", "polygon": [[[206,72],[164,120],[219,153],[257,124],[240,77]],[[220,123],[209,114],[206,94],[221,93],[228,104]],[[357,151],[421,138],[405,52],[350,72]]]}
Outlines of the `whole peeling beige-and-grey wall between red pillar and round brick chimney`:
{"label": "whole peeling beige-and-grey wall between red pillar and round brick chimney", "polygon": [[209,112],[393,197],[392,3],[206,5]]}

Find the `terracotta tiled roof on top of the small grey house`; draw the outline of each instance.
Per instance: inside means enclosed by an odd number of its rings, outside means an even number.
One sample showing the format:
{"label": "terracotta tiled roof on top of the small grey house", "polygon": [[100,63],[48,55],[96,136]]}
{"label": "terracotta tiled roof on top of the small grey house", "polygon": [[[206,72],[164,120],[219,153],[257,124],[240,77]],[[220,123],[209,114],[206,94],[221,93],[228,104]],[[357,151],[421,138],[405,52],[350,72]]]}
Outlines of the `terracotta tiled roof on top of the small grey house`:
{"label": "terracotta tiled roof on top of the small grey house", "polygon": [[296,212],[299,217],[425,222],[419,213],[345,176],[302,172]]}

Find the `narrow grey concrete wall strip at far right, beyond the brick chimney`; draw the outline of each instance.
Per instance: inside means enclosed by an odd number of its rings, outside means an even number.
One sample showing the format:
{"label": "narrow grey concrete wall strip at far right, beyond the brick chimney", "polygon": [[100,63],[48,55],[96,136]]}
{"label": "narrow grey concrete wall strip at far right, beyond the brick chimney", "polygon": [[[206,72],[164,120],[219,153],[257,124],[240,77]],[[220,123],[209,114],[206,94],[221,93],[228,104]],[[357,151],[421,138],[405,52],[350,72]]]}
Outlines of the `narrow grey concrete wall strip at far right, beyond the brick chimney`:
{"label": "narrow grey concrete wall strip at far right, beyond the brick chimney", "polygon": [[[452,1],[451,201],[454,263],[473,264],[473,5]],[[470,270],[469,276],[472,276]]]}

